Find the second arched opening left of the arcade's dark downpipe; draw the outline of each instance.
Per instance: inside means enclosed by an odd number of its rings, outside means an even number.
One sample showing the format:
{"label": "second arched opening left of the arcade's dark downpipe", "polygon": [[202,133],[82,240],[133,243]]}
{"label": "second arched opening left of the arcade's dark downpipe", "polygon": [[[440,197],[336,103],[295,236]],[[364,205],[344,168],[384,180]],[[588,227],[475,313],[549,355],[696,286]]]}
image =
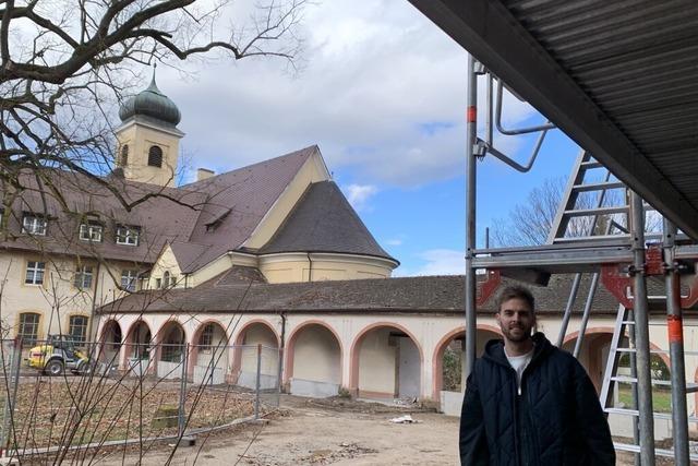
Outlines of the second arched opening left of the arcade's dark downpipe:
{"label": "second arched opening left of the arcade's dark downpipe", "polygon": [[191,348],[194,383],[221,384],[228,367],[228,336],[217,322],[203,323]]}

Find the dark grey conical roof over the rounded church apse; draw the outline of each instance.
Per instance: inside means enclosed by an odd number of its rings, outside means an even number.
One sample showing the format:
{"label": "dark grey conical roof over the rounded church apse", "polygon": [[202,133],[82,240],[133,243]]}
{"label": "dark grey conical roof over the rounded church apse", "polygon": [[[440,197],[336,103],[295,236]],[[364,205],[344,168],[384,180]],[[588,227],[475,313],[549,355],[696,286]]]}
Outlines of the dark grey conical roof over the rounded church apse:
{"label": "dark grey conical roof over the rounded church apse", "polygon": [[339,252],[393,259],[375,241],[334,181],[311,184],[260,253]]}

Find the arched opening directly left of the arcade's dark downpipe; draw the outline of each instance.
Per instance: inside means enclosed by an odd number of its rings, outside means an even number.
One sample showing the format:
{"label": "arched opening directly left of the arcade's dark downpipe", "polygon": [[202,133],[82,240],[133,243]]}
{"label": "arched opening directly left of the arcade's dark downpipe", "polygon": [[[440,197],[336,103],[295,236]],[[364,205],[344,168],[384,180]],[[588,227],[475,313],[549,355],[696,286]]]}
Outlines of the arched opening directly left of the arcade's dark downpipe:
{"label": "arched opening directly left of the arcade's dark downpipe", "polygon": [[[257,356],[257,350],[261,349]],[[236,338],[233,379],[237,384],[249,389],[256,386],[257,357],[260,387],[276,389],[279,384],[279,337],[264,321],[248,323]],[[237,373],[237,378],[234,374]]]}

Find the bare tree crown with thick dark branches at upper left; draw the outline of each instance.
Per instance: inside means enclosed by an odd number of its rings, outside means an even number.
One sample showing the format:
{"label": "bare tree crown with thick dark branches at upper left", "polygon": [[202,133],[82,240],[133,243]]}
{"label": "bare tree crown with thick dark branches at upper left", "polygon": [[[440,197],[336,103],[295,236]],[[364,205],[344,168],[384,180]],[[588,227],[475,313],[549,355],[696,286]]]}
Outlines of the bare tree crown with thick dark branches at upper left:
{"label": "bare tree crown with thick dark branches at upper left", "polygon": [[232,3],[0,0],[3,184],[21,192],[20,174],[28,169],[61,201],[45,174],[45,168],[60,168],[105,184],[130,210],[137,200],[123,198],[100,176],[113,168],[115,138],[107,116],[132,89],[135,68],[260,56],[293,67],[298,59],[305,0],[268,0],[246,13]]}

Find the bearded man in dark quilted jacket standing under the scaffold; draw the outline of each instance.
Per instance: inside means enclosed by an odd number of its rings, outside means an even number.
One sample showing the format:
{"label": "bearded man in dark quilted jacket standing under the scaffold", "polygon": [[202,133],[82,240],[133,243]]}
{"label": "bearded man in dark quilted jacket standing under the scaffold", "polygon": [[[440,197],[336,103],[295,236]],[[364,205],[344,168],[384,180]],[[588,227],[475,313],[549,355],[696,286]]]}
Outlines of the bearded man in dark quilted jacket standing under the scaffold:
{"label": "bearded man in dark quilted jacket standing under the scaffold", "polygon": [[490,340],[468,378],[460,417],[461,465],[614,465],[609,423],[591,380],[535,325],[534,300],[505,288]]}

